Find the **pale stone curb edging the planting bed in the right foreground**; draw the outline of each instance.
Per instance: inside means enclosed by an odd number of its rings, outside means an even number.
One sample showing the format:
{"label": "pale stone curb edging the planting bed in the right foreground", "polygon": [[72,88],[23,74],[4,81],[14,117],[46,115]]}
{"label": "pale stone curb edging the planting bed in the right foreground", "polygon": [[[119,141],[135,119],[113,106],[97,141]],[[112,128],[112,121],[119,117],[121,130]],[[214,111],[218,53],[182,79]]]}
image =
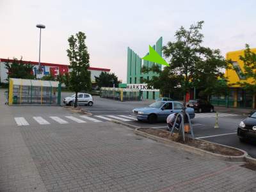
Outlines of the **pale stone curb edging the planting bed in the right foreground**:
{"label": "pale stone curb edging the planting bed in the right foreground", "polygon": [[[242,156],[224,156],[221,154],[214,154],[212,152],[208,152],[208,151],[202,150],[200,148],[195,148],[195,147],[191,147],[188,145],[184,145],[182,143],[177,143],[175,141],[170,141],[170,140],[166,140],[164,138],[159,138],[157,136],[147,134],[146,132],[138,131],[138,128],[134,130],[134,133],[138,134],[140,136],[144,136],[146,138],[150,138],[150,139],[160,142],[160,143],[172,144],[172,146],[177,148],[178,150],[185,150],[186,152],[189,152],[189,153],[198,154],[203,157],[218,159],[218,160],[222,160],[222,161],[246,162],[246,158],[248,157],[247,152],[245,152],[244,150],[241,150],[239,148],[236,148],[236,149],[240,150],[241,152],[244,153]],[[225,147],[228,147],[228,146],[225,146]],[[230,148],[234,148],[234,147],[230,147]],[[251,161],[253,161],[253,163],[256,163],[256,159],[255,160],[252,160],[252,159],[253,159],[252,157],[249,157],[249,159],[247,161],[250,161],[250,163],[251,163]]]}

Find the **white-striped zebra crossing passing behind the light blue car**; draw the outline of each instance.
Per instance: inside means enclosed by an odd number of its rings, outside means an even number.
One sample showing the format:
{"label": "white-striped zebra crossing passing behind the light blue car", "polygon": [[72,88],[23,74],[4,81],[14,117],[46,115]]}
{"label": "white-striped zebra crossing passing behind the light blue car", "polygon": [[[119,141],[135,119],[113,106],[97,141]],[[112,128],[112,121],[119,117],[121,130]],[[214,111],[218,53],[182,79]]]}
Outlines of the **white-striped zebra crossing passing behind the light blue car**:
{"label": "white-striped zebra crossing passing behind the light blue car", "polygon": [[[218,113],[218,117],[225,117],[225,116],[238,116],[236,114],[230,113]],[[196,113],[195,118],[215,118],[216,113]],[[30,124],[40,124],[40,125],[51,125],[54,123],[57,124],[70,124],[70,123],[77,123],[77,124],[85,124],[88,122],[93,123],[100,123],[106,122],[111,120],[119,120],[122,122],[131,122],[136,121],[137,119],[129,116],[129,115],[94,115],[94,116],[33,116],[33,122],[29,122],[23,116],[15,117],[14,120],[18,126],[28,126]]]}

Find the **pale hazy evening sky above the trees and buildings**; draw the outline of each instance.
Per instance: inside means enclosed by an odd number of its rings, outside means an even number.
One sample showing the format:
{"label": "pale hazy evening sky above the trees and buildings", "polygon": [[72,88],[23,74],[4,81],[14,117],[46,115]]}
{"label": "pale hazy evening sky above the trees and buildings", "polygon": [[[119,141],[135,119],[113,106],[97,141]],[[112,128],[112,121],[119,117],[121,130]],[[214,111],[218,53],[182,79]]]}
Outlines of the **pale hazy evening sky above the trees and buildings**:
{"label": "pale hazy evening sky above the trees and buildings", "polygon": [[200,20],[205,24],[203,45],[228,51],[256,47],[255,0],[0,0],[0,58],[67,64],[67,39],[86,34],[90,66],[110,68],[126,82],[127,47],[143,57],[148,45],[163,36],[163,45],[175,40],[175,31]]}

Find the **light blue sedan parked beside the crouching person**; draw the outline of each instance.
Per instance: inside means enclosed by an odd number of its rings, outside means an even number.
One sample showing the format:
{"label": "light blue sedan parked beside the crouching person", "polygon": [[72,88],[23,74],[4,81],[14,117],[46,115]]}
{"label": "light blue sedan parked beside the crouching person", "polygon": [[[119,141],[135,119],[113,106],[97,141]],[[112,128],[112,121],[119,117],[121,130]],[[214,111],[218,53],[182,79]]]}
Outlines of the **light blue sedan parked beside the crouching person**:
{"label": "light blue sedan parked beside the crouching person", "polygon": [[[132,116],[141,121],[155,123],[157,121],[165,121],[171,113],[180,113],[184,106],[177,101],[161,101],[154,102],[146,108],[136,108],[132,110]],[[193,108],[186,108],[186,112],[190,118],[195,118]]]}

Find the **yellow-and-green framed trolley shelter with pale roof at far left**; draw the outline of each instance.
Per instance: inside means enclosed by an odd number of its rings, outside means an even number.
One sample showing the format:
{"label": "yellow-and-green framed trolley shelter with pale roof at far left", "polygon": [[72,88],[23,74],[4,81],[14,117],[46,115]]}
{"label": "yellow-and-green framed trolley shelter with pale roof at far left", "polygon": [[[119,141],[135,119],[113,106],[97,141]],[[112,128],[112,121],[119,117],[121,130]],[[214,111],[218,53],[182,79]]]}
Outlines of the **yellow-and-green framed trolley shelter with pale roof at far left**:
{"label": "yellow-and-green framed trolley shelter with pale roof at far left", "polygon": [[9,79],[8,104],[56,105],[61,103],[61,83],[31,79]]}

